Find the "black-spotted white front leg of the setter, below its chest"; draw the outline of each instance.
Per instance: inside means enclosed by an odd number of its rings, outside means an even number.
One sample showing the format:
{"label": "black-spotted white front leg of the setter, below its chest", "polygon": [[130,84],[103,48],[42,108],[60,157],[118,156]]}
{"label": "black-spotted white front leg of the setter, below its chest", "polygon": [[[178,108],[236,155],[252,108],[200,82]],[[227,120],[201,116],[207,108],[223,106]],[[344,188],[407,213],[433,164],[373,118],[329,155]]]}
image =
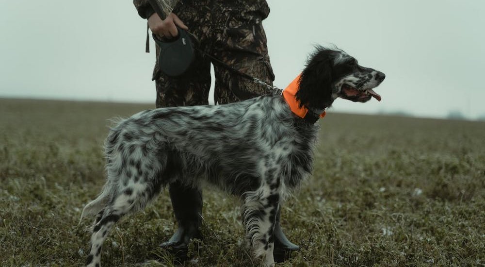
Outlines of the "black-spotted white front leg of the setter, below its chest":
{"label": "black-spotted white front leg of the setter, below its chest", "polygon": [[[267,189],[267,188],[266,188]],[[243,219],[246,236],[256,257],[262,257],[267,267],[275,265],[275,221],[280,196],[277,190],[259,188],[246,194]]]}

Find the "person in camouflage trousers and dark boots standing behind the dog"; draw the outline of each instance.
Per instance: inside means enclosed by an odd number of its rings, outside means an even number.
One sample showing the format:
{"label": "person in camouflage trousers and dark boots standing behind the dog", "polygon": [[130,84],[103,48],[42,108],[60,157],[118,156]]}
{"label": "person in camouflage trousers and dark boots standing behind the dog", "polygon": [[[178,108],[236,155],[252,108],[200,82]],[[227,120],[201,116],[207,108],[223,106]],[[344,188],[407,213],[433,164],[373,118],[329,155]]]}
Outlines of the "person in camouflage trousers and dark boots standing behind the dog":
{"label": "person in camouflage trousers and dark boots standing behind the dog", "polygon": [[[177,27],[189,30],[197,38],[197,46],[225,64],[265,83],[275,76],[262,26],[270,9],[266,0],[162,0],[165,14],[154,11],[148,0],[133,0],[138,14],[148,20],[152,33],[165,38],[178,34]],[[173,9],[172,9],[173,7]],[[148,41],[147,41],[148,45]],[[148,51],[148,50],[147,50]],[[156,47],[156,58],[160,48]],[[171,107],[208,104],[210,90],[210,57],[196,50],[190,69],[179,77],[164,75],[158,62],[155,80],[156,106]],[[212,62],[214,66],[214,102],[219,104],[246,100],[267,93],[267,89],[233,70]],[[169,184],[178,230],[162,247],[186,253],[192,238],[201,238],[202,192],[185,184]],[[299,247],[291,243],[280,227],[280,213],[275,225],[275,260],[284,261]]]}

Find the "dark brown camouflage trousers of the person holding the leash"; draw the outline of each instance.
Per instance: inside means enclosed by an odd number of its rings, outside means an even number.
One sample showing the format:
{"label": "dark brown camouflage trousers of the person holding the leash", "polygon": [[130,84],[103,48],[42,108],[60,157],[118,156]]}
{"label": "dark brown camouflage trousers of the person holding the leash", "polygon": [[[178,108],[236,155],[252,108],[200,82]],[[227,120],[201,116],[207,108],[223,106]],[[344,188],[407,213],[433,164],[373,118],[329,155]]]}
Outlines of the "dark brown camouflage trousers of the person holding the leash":
{"label": "dark brown camouflage trousers of the person holding the leash", "polygon": [[[269,14],[266,0],[182,0],[173,10],[197,38],[198,48],[227,65],[272,84],[262,20]],[[157,46],[157,59],[160,48]],[[210,58],[196,51],[190,69],[182,76],[164,75],[155,65],[157,107],[208,104]],[[224,104],[267,93],[234,71],[214,62],[214,102]]]}

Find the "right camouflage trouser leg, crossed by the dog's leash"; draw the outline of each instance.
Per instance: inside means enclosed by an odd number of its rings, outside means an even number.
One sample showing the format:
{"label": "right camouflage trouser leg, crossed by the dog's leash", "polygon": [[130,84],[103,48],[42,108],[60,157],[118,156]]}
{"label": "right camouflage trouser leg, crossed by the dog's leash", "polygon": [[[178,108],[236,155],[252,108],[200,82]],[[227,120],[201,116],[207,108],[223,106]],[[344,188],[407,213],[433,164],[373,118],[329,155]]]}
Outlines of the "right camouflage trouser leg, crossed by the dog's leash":
{"label": "right camouflage trouser leg, crossed by the dog's leash", "polygon": [[[262,25],[269,14],[266,1],[221,2],[214,9],[221,15],[213,18],[212,54],[227,65],[272,84],[275,75]],[[217,63],[213,64],[216,78],[214,101],[217,103],[246,100],[268,93],[264,86]]]}

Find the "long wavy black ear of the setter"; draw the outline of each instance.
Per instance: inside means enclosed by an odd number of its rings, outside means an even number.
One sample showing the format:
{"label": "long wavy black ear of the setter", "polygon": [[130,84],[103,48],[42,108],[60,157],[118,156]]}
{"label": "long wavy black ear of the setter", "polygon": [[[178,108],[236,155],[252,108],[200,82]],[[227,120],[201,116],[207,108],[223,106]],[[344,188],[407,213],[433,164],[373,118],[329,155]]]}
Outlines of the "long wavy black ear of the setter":
{"label": "long wavy black ear of the setter", "polygon": [[300,86],[296,99],[300,107],[323,109],[330,106],[332,100],[332,67],[334,51],[317,48],[310,56],[307,66],[300,77]]}

